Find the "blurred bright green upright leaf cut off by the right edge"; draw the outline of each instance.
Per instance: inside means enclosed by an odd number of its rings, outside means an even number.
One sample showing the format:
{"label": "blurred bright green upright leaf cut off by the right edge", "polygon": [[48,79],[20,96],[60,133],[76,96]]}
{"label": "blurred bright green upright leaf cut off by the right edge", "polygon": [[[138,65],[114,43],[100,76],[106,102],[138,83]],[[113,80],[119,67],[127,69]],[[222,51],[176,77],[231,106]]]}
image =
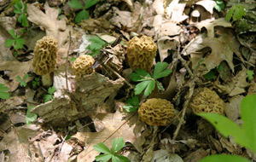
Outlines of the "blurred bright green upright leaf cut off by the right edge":
{"label": "blurred bright green upright leaf cut off by the right edge", "polygon": [[[247,95],[241,100],[241,120],[243,124],[241,128],[245,131],[247,145],[256,153],[256,95]],[[232,135],[233,136],[233,135]]]}

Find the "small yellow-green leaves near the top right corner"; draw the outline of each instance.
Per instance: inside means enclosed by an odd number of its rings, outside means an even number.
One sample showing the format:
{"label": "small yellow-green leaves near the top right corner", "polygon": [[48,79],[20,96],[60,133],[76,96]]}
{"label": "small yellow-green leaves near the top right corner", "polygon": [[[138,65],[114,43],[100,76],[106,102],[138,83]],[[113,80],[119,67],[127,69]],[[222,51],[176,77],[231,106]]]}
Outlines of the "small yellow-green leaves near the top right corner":
{"label": "small yellow-green leaves near the top right corner", "polygon": [[232,8],[226,14],[226,20],[230,21],[232,18],[232,22],[236,20],[241,20],[241,17],[246,14],[244,6],[241,4],[233,5]]}

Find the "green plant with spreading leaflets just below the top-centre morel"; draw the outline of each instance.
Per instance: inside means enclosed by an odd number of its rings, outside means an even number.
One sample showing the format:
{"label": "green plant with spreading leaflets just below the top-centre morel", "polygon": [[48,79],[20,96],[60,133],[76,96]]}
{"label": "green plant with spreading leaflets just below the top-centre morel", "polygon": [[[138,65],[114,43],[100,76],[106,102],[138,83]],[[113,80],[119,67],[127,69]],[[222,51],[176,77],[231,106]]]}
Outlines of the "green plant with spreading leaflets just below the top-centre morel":
{"label": "green plant with spreading leaflets just below the top-centre morel", "polygon": [[157,84],[159,90],[163,90],[164,88],[157,79],[166,77],[172,73],[171,69],[166,69],[167,66],[168,64],[166,62],[157,62],[154,67],[153,76],[143,69],[137,69],[131,73],[131,80],[141,82],[135,87],[135,95],[141,94],[143,90],[145,90],[144,95],[150,95],[152,90],[154,90],[155,84]]}

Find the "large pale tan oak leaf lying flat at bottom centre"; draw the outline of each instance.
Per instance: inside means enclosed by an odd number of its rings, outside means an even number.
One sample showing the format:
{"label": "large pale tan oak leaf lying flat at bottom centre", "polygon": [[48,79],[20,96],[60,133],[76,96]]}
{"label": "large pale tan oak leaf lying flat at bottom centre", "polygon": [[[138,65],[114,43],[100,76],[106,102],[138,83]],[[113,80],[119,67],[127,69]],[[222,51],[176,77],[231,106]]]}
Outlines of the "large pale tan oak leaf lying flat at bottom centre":
{"label": "large pale tan oak leaf lying flat at bottom centre", "polygon": [[[80,142],[87,144],[84,151],[79,153],[78,161],[93,162],[96,155],[99,154],[99,152],[94,150],[93,146],[99,142],[104,142],[108,148],[111,148],[114,138],[123,137],[125,142],[131,143],[135,142],[137,139],[137,136],[133,132],[135,125],[129,126],[126,121],[127,118],[123,119],[123,115],[120,113],[119,109],[116,113],[99,113],[96,118],[102,120],[102,123],[105,124],[104,130],[96,133],[78,132],[76,135],[72,136],[73,138],[77,138]],[[117,131],[115,132],[115,130]]]}

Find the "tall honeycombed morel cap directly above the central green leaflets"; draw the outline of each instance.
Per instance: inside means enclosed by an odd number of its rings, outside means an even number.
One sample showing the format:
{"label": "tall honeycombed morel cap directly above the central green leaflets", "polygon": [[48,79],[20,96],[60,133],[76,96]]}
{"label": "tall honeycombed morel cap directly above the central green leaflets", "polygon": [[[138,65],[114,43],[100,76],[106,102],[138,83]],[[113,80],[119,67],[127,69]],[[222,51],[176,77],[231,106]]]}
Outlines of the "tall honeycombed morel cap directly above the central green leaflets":
{"label": "tall honeycombed morel cap directly above the central green leaflets", "polygon": [[153,67],[156,50],[157,47],[152,38],[148,36],[132,38],[127,44],[127,61],[129,66],[133,70],[144,69],[149,72]]}

